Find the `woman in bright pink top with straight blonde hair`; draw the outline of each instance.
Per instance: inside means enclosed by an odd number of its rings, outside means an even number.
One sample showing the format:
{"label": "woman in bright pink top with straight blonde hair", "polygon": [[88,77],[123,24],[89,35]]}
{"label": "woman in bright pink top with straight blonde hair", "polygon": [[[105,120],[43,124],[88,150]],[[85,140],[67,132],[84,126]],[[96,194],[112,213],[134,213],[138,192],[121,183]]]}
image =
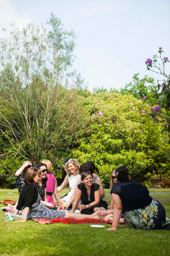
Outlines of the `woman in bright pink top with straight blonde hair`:
{"label": "woman in bright pink top with straight blonde hair", "polygon": [[47,166],[47,170],[48,173],[46,174],[48,180],[46,182],[46,196],[47,196],[47,200],[48,202],[52,202],[52,204],[54,205],[54,200],[53,200],[53,194],[58,202],[58,206],[60,207],[60,209],[62,209],[62,203],[58,194],[58,190],[57,190],[57,180],[56,177],[52,174],[52,164],[50,162],[50,160],[43,160],[42,163],[45,163]]}

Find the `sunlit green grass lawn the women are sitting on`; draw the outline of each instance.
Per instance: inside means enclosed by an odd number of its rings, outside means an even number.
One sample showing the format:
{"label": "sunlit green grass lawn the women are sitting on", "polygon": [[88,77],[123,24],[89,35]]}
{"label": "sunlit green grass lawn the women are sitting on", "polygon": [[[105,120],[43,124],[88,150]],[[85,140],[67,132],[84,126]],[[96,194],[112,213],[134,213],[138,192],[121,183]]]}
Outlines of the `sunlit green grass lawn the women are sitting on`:
{"label": "sunlit green grass lawn the women are sitting on", "polygon": [[[68,190],[62,191],[61,196]],[[105,190],[108,204],[109,190]],[[168,192],[170,189],[150,189],[151,193]],[[13,193],[13,194],[7,194]],[[158,199],[170,218],[170,194],[151,194]],[[18,189],[0,189],[0,201],[18,199]],[[1,204],[1,207],[4,205]],[[168,230],[134,230],[128,224],[119,225],[118,230],[109,232],[106,228],[92,228],[88,224],[40,225],[34,221],[14,223],[2,221],[0,211],[0,254],[7,255],[170,255]],[[31,238],[33,237],[33,238]]]}

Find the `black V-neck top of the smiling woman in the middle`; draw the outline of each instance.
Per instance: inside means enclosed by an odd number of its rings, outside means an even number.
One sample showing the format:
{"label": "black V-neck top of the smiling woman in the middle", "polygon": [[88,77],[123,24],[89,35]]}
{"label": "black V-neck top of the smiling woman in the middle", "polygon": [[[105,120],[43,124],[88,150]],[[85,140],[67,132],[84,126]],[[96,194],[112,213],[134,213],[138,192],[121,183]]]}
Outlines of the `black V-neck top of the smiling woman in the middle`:
{"label": "black V-neck top of the smiling woman in the middle", "polygon": [[100,188],[100,185],[94,184],[94,183],[92,184],[91,190],[90,190],[90,201],[89,201],[86,186],[84,185],[84,183],[80,183],[78,185],[78,189],[80,189],[82,192],[81,193],[82,204],[88,205],[88,204],[90,204],[90,202],[94,202],[95,201],[95,191],[97,191],[99,188]]}

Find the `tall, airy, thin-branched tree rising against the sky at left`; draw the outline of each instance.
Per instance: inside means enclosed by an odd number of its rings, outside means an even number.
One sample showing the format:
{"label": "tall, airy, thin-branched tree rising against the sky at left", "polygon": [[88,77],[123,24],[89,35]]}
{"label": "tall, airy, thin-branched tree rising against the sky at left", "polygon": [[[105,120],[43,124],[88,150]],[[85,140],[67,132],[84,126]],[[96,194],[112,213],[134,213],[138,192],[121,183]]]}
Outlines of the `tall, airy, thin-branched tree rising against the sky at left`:
{"label": "tall, airy, thin-branched tree rising against the sky at left", "polygon": [[74,47],[74,32],[53,14],[46,26],[12,24],[1,39],[0,131],[13,156],[39,161],[56,148],[64,154],[83,128],[84,81],[72,71]]}

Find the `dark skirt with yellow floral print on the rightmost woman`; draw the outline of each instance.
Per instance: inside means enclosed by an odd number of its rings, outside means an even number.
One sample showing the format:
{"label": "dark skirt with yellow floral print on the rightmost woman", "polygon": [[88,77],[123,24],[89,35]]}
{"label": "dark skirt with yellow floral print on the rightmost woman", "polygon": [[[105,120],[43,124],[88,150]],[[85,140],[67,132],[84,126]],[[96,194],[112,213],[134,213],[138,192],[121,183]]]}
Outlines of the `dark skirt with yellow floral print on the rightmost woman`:
{"label": "dark skirt with yellow floral print on the rightmost woman", "polygon": [[150,205],[142,209],[125,211],[124,217],[131,227],[138,230],[162,228],[169,222],[166,220],[166,211],[163,205],[154,198]]}

